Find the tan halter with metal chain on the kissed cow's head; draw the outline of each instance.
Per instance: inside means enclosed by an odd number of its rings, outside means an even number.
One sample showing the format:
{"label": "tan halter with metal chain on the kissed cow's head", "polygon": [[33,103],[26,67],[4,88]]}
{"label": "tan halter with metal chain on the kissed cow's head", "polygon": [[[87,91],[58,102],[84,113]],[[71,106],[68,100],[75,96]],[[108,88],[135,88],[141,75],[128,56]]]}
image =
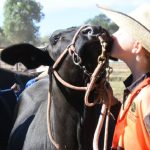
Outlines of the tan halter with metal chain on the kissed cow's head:
{"label": "tan halter with metal chain on the kissed cow's head", "polygon": [[[81,32],[81,30],[83,30],[84,28],[88,27],[88,25],[85,25],[85,26],[81,26],[77,32],[75,33],[73,39],[72,39],[72,42],[67,46],[67,48],[61,53],[61,55],[57,58],[57,60],[55,61],[54,65],[52,68],[49,69],[49,77],[50,77],[50,87],[49,87],[49,92],[48,92],[48,105],[47,105],[47,127],[48,127],[48,135],[49,135],[49,138],[52,142],[52,144],[56,147],[56,149],[60,149],[60,146],[58,143],[56,143],[56,141],[53,139],[52,137],[52,134],[51,134],[51,125],[50,125],[50,107],[51,107],[51,90],[52,90],[52,74],[56,77],[56,79],[62,84],[64,85],[65,87],[68,87],[70,89],[73,89],[73,90],[77,90],[77,91],[85,91],[85,97],[84,97],[84,102],[85,102],[85,105],[86,106],[94,106],[97,101],[93,101],[92,103],[89,102],[89,95],[91,93],[91,91],[93,90],[93,88],[95,87],[95,82],[97,80],[97,78],[99,77],[99,73],[101,72],[102,69],[106,69],[106,67],[108,67],[108,75],[107,77],[105,77],[105,80],[104,80],[104,89],[106,89],[105,87],[105,81],[106,81],[106,78],[109,77],[109,74],[111,73],[111,68],[109,66],[107,66],[106,64],[108,64],[108,54],[107,54],[107,51],[106,51],[106,46],[107,46],[107,43],[106,41],[103,39],[103,36],[105,36],[104,34],[102,35],[95,35],[99,41],[100,41],[100,45],[102,46],[102,53],[101,55],[99,55],[98,57],[98,65],[97,67],[95,68],[94,72],[92,73],[92,75],[90,75],[86,69],[85,66],[82,66],[81,65],[81,58],[80,56],[77,54],[76,52],[76,48],[75,48],[75,42],[78,38],[78,35],[79,33]],[[64,81],[60,75],[58,74],[58,72],[56,71],[57,70],[57,67],[58,65],[62,62],[63,58],[66,57],[66,54],[69,54],[70,56],[72,56],[72,60],[74,62],[75,65],[79,66],[85,74],[87,74],[88,76],[90,76],[90,83],[87,84],[87,86],[75,86],[75,85],[72,85],[66,81]],[[106,91],[107,92],[107,91]],[[99,102],[100,103],[100,102]],[[105,111],[106,111],[106,106],[103,106],[105,107]],[[97,136],[97,135],[96,135]],[[99,136],[99,135],[98,135]]]}

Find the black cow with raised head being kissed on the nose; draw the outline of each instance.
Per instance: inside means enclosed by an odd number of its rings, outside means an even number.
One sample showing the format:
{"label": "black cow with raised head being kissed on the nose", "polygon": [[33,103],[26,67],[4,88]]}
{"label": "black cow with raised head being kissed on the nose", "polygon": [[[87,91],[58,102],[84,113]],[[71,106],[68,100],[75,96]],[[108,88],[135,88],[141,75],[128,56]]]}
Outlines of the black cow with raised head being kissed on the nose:
{"label": "black cow with raised head being kissed on the nose", "polygon": [[[45,50],[40,50],[29,44],[19,44],[6,48],[1,54],[2,60],[9,64],[22,62],[28,68],[39,65],[49,65],[50,68],[71,43],[77,32],[77,27],[54,32]],[[85,86],[90,73],[97,65],[101,53],[98,35],[105,34],[109,49],[112,39],[100,26],[88,26],[82,29],[75,40],[76,54],[65,55],[56,68],[60,76],[68,83]],[[72,51],[70,51],[72,53]],[[79,64],[79,57],[82,62]],[[86,68],[86,69],[85,69]],[[61,150],[92,150],[93,134],[100,114],[100,105],[87,107],[84,105],[85,91],[76,91],[65,87],[49,70],[49,77],[36,82],[21,95],[18,103],[16,121],[11,132],[8,150],[54,150],[47,129],[48,91],[51,93],[50,124],[53,139]],[[86,73],[85,73],[86,72]],[[105,71],[101,73],[105,76]],[[49,80],[50,79],[50,80]],[[115,118],[120,104],[112,108]],[[115,120],[110,120],[110,148]],[[103,133],[100,148],[103,146]]]}

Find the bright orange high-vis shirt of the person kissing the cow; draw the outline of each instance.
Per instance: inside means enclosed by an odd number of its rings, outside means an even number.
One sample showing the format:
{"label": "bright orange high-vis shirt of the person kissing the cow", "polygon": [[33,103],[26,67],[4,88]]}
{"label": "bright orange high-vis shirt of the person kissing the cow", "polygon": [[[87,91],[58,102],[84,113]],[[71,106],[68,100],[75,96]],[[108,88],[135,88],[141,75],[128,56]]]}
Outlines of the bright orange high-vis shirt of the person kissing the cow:
{"label": "bright orange high-vis shirt of the person kissing the cow", "polygon": [[115,127],[112,149],[150,150],[150,136],[144,125],[141,103],[136,98],[142,88],[150,84],[144,79],[128,96],[125,108],[121,108]]}

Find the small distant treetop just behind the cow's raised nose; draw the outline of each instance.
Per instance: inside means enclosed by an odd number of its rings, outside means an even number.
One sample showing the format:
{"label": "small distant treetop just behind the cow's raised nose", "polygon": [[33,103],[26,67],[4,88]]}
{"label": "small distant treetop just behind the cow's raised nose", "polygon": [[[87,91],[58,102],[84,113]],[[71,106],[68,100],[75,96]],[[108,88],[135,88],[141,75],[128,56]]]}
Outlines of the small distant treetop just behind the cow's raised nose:
{"label": "small distant treetop just behind the cow's raised nose", "polygon": [[98,16],[95,16],[93,19],[87,20],[85,24],[100,25],[108,30],[110,33],[114,33],[116,30],[118,30],[118,26],[113,23],[109,18],[107,18],[104,14],[100,14]]}

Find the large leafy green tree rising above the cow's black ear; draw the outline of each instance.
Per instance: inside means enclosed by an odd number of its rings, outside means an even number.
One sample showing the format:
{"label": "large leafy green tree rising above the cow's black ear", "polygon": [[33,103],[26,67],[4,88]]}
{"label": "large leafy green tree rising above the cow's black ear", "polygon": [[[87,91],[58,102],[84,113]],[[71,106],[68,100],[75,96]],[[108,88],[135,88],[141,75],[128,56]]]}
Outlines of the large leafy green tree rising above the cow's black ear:
{"label": "large leafy green tree rising above the cow's black ear", "polygon": [[36,41],[39,27],[36,23],[44,17],[42,6],[35,0],[7,0],[4,5],[3,30],[12,43]]}

